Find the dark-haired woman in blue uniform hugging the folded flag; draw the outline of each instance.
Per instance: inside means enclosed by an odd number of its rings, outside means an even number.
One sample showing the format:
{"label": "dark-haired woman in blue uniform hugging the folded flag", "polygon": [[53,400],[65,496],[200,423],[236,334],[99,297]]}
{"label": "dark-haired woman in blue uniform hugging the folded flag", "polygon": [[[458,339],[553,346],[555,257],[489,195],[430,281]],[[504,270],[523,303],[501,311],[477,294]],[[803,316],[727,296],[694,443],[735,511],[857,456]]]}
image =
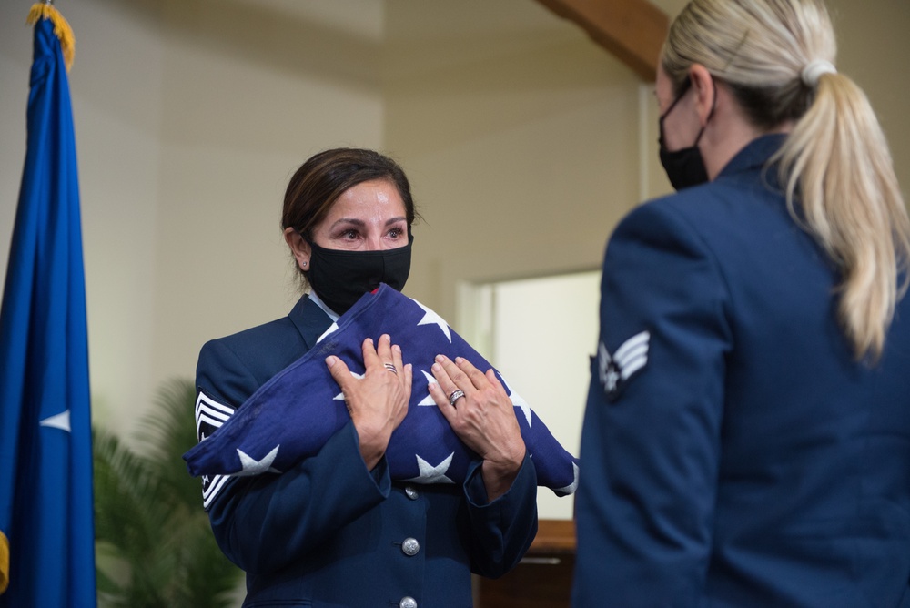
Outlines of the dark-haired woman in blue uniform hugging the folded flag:
{"label": "dark-haired woman in blue uniform hugging the folded flag", "polygon": [[[376,152],[328,150],[298,169],[282,226],[312,290],[287,317],[203,347],[200,440],[379,281],[404,286],[415,216],[407,177]],[[362,379],[327,360],[351,421],[318,455],[280,475],[204,480],[217,542],[247,572],[245,606],[470,606],[470,573],[507,572],[533,540],[537,480],[511,400],[482,375],[480,390],[447,400],[453,430],[483,455],[463,486],[391,481],[384,455],[412,370],[389,336],[367,339],[363,356]],[[450,360],[436,367],[444,386],[460,378]],[[490,423],[471,426],[478,414]]]}

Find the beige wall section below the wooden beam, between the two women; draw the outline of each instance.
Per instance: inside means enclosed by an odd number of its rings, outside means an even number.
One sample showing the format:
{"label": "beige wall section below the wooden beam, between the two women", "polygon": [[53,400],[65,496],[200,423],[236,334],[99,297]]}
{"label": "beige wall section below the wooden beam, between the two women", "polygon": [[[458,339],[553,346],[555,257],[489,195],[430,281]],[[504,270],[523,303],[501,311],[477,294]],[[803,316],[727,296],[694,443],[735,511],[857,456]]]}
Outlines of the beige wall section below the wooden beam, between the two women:
{"label": "beige wall section below the wooden beam, between the two women", "polygon": [[387,25],[386,145],[427,220],[410,293],[454,319],[459,281],[599,266],[642,198],[632,72],[528,0],[389,0]]}

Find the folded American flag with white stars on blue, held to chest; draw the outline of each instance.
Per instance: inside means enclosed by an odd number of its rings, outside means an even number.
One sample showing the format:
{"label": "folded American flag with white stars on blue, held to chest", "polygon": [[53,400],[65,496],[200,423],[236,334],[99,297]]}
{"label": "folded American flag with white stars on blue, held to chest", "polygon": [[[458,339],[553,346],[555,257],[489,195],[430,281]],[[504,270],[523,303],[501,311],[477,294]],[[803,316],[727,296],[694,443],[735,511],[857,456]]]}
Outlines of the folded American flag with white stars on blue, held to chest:
{"label": "folded American flag with white stars on blue, held to chest", "polygon": [[[388,285],[364,295],[319,338],[303,357],[278,372],[204,437],[183,458],[194,476],[256,475],[287,471],[315,455],[350,416],[325,359],[335,355],[352,374],[364,370],[361,344],[388,333],[411,363],[414,381],[408,415],[392,433],[386,459],[393,480],[462,483],[477,454],[451,430],[427,389],[435,382],[430,366],[437,354],[463,357],[479,370],[490,363],[432,310]],[[559,496],[578,485],[578,460],[562,448],[521,397],[497,377],[515,406],[521,436],[537,471],[538,485]],[[197,404],[197,420],[200,417]]]}

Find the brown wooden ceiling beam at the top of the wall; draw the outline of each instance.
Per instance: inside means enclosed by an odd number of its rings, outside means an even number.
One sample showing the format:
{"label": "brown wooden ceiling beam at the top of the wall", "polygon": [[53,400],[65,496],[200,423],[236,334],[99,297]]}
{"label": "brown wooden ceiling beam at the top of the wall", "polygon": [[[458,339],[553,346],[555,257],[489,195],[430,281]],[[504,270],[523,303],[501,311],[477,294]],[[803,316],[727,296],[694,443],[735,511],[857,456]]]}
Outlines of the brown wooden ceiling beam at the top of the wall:
{"label": "brown wooden ceiling beam at the top of the wall", "polygon": [[657,62],[670,20],[648,0],[537,0],[579,25],[599,45],[644,80],[657,76]]}

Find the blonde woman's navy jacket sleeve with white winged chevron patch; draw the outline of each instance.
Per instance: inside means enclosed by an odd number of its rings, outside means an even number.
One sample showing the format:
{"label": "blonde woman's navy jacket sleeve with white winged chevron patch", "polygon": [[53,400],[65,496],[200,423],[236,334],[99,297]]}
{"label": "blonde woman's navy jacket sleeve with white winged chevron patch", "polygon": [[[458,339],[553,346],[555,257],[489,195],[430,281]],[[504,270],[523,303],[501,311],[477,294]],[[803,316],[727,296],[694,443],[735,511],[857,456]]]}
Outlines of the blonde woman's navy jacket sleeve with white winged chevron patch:
{"label": "blonde woman's navy jacket sleeve with white winged chevron patch", "polygon": [[645,205],[616,229],[581,434],[575,605],[698,604],[729,307],[713,252],[673,208]]}

